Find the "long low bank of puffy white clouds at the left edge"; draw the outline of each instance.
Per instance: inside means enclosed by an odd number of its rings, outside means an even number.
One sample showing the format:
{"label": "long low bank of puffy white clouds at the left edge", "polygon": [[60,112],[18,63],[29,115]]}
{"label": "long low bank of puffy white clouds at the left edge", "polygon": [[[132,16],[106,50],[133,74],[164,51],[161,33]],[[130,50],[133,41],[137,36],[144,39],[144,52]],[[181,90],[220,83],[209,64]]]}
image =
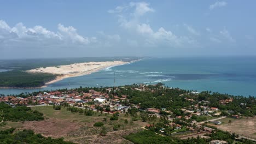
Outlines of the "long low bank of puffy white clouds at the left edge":
{"label": "long low bank of puffy white clouds at the left edge", "polygon": [[[14,43],[15,41],[15,43]],[[87,38],[79,35],[74,27],[58,25],[58,31],[52,32],[42,26],[27,28],[23,23],[18,23],[14,27],[0,20],[0,45],[57,45],[57,44],[79,44],[85,45],[96,43],[95,37]]]}

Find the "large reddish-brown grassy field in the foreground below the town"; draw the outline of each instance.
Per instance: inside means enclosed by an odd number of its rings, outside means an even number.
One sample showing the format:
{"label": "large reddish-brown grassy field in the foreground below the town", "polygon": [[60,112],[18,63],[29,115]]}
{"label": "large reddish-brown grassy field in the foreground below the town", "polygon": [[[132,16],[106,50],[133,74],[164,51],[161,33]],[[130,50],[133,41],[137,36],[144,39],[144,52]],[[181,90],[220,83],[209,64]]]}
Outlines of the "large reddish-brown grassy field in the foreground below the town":
{"label": "large reddish-brown grassy field in the foreground below the town", "polygon": [[[44,113],[43,121],[33,122],[5,122],[1,129],[15,127],[17,129],[32,129],[35,133],[54,138],[64,137],[67,141],[76,143],[130,143],[123,139],[124,135],[136,133],[141,127],[148,123],[132,121],[131,116],[121,114],[117,121],[110,121],[112,114],[95,112],[92,116],[79,115],[67,111],[65,107],[61,110],[53,110],[52,106],[31,107]],[[103,119],[106,118],[107,121]],[[125,123],[127,119],[128,123]],[[94,123],[103,122],[106,127],[107,135],[100,136],[101,127],[94,127]],[[132,123],[131,123],[132,122]],[[153,122],[151,122],[153,123]],[[113,130],[115,125],[119,125],[118,130]]]}

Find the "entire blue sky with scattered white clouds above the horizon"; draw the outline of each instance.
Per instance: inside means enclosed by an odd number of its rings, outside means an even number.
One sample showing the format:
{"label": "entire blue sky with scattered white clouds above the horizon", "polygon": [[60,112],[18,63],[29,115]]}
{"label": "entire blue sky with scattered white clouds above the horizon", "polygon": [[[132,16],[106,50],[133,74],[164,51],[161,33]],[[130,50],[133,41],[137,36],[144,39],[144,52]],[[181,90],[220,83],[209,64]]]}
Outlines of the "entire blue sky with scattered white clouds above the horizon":
{"label": "entire blue sky with scattered white clouds above the horizon", "polygon": [[255,1],[1,1],[1,58],[256,55]]}

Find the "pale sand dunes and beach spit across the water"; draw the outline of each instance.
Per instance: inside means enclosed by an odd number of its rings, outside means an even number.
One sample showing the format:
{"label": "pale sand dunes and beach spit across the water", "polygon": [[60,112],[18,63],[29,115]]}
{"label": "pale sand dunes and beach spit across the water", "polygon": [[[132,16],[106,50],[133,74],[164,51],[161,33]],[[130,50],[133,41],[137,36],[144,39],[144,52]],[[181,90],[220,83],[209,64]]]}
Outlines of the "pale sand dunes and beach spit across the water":
{"label": "pale sand dunes and beach spit across the water", "polygon": [[69,65],[59,65],[56,67],[45,67],[45,68],[37,68],[27,70],[28,73],[49,73],[49,74],[57,74],[59,76],[56,77],[55,80],[46,82],[45,86],[66,79],[68,77],[82,76],[88,75],[91,73],[95,73],[98,70],[113,67],[117,65],[123,65],[130,62],[123,61],[108,61],[108,62],[86,62],[86,63],[74,63]]}

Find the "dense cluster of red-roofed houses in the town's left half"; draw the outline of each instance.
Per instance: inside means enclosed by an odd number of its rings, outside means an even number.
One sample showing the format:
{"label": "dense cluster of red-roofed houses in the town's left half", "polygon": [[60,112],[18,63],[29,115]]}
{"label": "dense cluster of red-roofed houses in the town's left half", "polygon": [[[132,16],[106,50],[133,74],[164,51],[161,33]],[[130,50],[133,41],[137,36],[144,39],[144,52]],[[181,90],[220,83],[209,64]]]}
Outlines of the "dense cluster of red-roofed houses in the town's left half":
{"label": "dense cluster of red-roofed houses in the town's left half", "polygon": [[[118,90],[118,89],[117,89]],[[59,91],[51,91],[39,93],[36,96],[31,96],[27,98],[21,97],[1,97],[0,101],[4,101],[9,105],[60,105],[61,103],[68,103],[69,105],[85,107],[89,106],[92,110],[96,109],[96,106],[100,107],[109,107],[108,112],[113,111],[127,111],[129,106],[122,105],[122,101],[129,101],[126,97],[127,95],[112,95],[112,98],[109,97],[108,92],[112,89],[107,89],[107,92],[96,92],[94,89],[90,89],[88,93],[78,93],[78,92],[68,92],[62,93]],[[88,105],[87,105],[88,104]],[[136,106],[135,106],[136,107]],[[106,109],[104,109],[106,111]]]}

